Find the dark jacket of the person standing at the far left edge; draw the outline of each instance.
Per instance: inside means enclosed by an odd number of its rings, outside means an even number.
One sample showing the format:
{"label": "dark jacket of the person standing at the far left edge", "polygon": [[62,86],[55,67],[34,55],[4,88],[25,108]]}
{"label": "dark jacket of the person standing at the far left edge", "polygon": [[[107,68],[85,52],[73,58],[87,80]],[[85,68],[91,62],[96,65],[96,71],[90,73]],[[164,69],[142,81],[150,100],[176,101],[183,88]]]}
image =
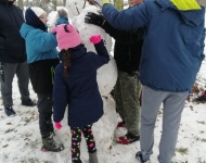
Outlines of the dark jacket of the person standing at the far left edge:
{"label": "dark jacket of the person standing at the far left edge", "polygon": [[0,0],[0,62],[26,61],[25,42],[20,35],[23,23],[23,11],[8,0]]}

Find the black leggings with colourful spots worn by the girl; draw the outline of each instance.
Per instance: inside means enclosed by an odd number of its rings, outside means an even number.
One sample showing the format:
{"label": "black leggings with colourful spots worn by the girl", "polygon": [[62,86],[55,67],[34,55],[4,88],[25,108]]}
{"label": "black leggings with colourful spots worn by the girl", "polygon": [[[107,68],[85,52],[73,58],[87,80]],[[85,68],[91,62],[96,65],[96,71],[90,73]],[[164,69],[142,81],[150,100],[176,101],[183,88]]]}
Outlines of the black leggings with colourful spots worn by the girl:
{"label": "black leggings with colourful spots worn by the girl", "polygon": [[87,142],[88,152],[93,153],[96,151],[95,149],[95,140],[93,137],[93,133],[91,130],[92,125],[80,127],[70,127],[72,133],[72,160],[73,163],[81,163],[80,160],[80,143],[81,143],[81,131],[83,133],[83,137]]}

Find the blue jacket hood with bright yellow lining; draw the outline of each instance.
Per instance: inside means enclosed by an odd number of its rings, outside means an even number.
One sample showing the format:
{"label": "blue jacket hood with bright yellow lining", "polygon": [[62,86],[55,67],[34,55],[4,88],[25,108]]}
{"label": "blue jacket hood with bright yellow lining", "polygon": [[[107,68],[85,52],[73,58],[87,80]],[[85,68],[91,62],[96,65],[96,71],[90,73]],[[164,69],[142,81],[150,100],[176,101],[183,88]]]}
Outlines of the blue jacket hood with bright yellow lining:
{"label": "blue jacket hood with bright yellow lining", "polygon": [[155,0],[154,2],[163,11],[167,9],[173,10],[190,26],[198,26],[204,20],[205,8],[198,5],[196,0]]}

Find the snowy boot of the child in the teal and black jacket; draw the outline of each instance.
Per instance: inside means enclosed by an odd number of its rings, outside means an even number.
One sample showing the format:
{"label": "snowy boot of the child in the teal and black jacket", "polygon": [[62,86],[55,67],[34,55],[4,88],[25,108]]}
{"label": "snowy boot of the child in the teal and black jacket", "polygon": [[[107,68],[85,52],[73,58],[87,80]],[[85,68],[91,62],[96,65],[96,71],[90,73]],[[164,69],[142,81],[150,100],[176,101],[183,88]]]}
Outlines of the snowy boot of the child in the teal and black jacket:
{"label": "snowy boot of the child in the teal and black jacket", "polygon": [[54,137],[54,134],[51,134],[47,138],[42,138],[42,143],[43,146],[41,148],[41,151],[43,152],[47,152],[47,151],[60,152],[64,150],[64,146],[57,141],[57,139]]}

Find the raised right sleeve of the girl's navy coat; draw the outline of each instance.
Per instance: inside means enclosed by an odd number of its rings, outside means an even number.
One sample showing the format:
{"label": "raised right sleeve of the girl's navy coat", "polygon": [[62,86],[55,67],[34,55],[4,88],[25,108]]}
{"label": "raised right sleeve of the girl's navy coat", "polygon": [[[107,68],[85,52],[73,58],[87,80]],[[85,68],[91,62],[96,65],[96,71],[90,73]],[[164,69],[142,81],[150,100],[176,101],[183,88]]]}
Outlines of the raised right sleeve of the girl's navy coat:
{"label": "raised right sleeve of the girl's navy coat", "polygon": [[92,53],[91,60],[94,63],[95,68],[99,68],[102,65],[108,63],[110,55],[106,50],[106,47],[104,46],[103,40],[101,40],[99,43],[94,45],[94,48],[95,48],[98,55],[95,53]]}

